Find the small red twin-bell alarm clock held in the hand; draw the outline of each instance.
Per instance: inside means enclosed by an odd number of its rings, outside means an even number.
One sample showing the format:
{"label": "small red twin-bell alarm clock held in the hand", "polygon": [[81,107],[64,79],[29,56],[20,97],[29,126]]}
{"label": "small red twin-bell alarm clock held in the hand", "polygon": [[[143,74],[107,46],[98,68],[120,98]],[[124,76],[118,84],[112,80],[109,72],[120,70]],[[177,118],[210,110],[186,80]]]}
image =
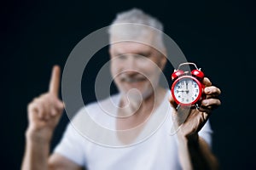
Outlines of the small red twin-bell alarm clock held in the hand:
{"label": "small red twin-bell alarm clock held in the hand", "polygon": [[[194,65],[195,70],[183,71],[180,67],[183,65]],[[198,69],[194,63],[183,63],[178,66],[177,70],[172,73],[172,97],[179,106],[183,105],[196,105],[203,99],[203,89],[205,88],[202,83],[204,73]]]}

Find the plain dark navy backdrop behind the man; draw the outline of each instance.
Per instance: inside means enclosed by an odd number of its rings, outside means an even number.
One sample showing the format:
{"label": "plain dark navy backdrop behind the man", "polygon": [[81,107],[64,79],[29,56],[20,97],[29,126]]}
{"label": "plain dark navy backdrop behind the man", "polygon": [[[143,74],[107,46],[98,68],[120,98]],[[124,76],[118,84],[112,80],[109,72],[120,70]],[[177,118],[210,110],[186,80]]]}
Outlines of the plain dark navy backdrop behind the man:
{"label": "plain dark navy backdrop behind the man", "polygon": [[[222,89],[223,105],[211,117],[213,152],[222,169],[253,169],[255,160],[255,3],[251,1],[14,1],[1,5],[1,169],[19,169],[27,126],[26,105],[48,89],[52,65],[61,65],[92,31],[117,12],[142,8],[165,25],[189,61]],[[86,49],[85,49],[86,50]],[[86,68],[85,103],[95,99],[97,70],[108,61],[102,48]],[[166,67],[166,77],[172,74]],[[171,86],[171,82],[170,82]],[[111,89],[114,93],[115,88]],[[52,147],[68,122],[64,113]],[[2,168],[3,167],[3,168]]]}

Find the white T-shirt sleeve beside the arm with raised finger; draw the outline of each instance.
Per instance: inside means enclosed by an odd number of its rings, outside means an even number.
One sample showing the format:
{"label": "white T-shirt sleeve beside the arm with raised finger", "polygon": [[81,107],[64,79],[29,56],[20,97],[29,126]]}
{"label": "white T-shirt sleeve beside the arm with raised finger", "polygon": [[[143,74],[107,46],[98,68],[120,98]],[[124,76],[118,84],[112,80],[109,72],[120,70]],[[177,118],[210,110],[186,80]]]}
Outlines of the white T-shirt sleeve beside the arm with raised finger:
{"label": "white T-shirt sleeve beside the arm with raised finger", "polygon": [[83,144],[84,138],[69,123],[61,142],[57,144],[54,152],[67,157],[67,159],[77,163],[79,166],[86,167]]}

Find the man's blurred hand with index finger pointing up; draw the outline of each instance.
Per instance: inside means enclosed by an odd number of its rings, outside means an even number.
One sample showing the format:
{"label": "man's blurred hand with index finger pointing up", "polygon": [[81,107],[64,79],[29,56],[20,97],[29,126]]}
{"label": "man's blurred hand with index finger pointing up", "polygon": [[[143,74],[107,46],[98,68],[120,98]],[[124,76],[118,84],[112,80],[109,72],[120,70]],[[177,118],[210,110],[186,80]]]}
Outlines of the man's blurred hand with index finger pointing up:
{"label": "man's blurred hand with index finger pointing up", "polygon": [[61,69],[54,66],[49,91],[32,100],[27,107],[29,127],[26,138],[32,142],[49,143],[55,126],[60,120],[64,105],[58,98]]}

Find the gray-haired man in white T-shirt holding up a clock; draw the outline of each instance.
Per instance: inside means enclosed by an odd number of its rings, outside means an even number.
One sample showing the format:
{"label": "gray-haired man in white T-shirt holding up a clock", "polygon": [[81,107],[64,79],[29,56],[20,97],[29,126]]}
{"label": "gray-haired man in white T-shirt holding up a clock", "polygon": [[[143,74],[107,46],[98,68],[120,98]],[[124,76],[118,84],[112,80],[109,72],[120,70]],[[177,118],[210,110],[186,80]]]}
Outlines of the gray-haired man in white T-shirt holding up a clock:
{"label": "gray-haired man in white T-shirt holding up a clock", "polygon": [[[119,23],[137,23],[162,30],[158,20],[138,9],[119,14],[113,24]],[[218,168],[218,161],[210,149],[212,131],[207,120],[212,109],[220,105],[220,90],[204,78],[207,98],[201,101],[199,109],[190,108],[189,116],[180,122],[188,109],[177,111],[170,91],[159,85],[160,73],[166,65],[162,37],[148,28],[137,29],[137,24],[111,26],[109,29],[110,42],[117,42],[111,44],[109,53],[111,73],[120,93],[81,109],[73,118],[73,126],[68,125],[61,143],[49,156],[50,139],[64,108],[58,99],[61,71],[58,66],[54,67],[49,92],[28,105],[29,126],[23,170]],[[125,37],[137,41],[119,42]],[[110,101],[119,107],[108,105]],[[103,114],[101,105],[105,105],[114,118]],[[85,110],[92,119],[115,129],[113,136],[95,131],[97,137],[103,136],[103,141],[107,142],[111,136],[114,144],[123,147],[85,139],[83,128],[89,128]],[[165,121],[155,127],[154,133],[147,133],[165,114]],[[172,125],[176,129],[174,135],[170,135]],[[94,132],[95,129],[89,130]]]}

